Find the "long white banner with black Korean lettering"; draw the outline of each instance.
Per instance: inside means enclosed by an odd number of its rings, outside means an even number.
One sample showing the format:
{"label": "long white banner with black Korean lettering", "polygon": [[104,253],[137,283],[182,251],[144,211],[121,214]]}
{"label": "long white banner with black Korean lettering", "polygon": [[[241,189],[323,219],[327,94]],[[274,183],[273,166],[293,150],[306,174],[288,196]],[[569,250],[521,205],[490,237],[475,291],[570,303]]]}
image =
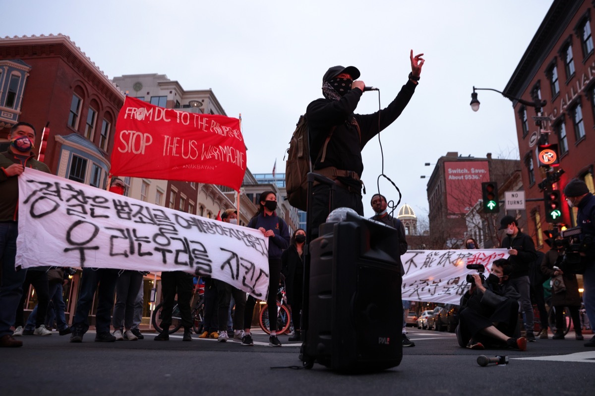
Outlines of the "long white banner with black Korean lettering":
{"label": "long white banner with black Korean lettering", "polygon": [[18,177],[16,265],[185,271],[264,299],[268,238],[34,169]]}

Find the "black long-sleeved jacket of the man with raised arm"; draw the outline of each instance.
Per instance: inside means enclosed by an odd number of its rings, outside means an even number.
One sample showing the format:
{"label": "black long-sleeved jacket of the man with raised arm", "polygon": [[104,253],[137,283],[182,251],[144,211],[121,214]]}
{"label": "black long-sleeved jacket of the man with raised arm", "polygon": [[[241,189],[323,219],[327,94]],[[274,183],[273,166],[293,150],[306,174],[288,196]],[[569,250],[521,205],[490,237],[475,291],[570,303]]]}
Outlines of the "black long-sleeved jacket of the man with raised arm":
{"label": "black long-sleeved jacket of the man with raised arm", "polygon": [[[405,109],[414,94],[416,85],[408,80],[399,94],[385,109],[380,110],[380,130],[389,126]],[[348,91],[340,100],[317,99],[308,105],[308,130],[310,156],[314,169],[334,166],[341,170],[352,170],[361,177],[364,171],[362,148],[378,133],[378,112],[368,115],[354,114],[363,92],[358,88]],[[351,123],[358,122],[358,129]],[[336,126],[328,142],[324,163],[317,161],[330,129]]]}

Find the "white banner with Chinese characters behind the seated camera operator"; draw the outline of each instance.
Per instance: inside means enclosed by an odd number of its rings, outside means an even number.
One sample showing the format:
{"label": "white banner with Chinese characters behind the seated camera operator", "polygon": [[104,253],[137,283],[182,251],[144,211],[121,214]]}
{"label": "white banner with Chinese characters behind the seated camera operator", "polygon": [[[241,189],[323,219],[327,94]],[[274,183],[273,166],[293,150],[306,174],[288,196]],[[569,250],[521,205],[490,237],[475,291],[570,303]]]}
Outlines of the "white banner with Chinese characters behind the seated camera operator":
{"label": "white banner with Chinese characters behind the seated camera operator", "polygon": [[409,251],[401,256],[405,275],[403,300],[458,304],[471,284],[465,280],[469,264],[481,264],[484,276],[490,274],[491,263],[508,258],[508,249],[470,249],[449,251]]}

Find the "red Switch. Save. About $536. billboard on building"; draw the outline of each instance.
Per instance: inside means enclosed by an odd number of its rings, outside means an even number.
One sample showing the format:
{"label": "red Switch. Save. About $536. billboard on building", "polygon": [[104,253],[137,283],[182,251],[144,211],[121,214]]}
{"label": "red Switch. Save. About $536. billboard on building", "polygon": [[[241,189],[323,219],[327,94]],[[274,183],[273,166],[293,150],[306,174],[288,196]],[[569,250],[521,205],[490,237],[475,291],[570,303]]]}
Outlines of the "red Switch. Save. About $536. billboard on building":
{"label": "red Switch. Save. About $536. billboard on building", "polygon": [[445,161],[444,179],[449,217],[468,213],[481,199],[481,183],[490,181],[488,162]]}

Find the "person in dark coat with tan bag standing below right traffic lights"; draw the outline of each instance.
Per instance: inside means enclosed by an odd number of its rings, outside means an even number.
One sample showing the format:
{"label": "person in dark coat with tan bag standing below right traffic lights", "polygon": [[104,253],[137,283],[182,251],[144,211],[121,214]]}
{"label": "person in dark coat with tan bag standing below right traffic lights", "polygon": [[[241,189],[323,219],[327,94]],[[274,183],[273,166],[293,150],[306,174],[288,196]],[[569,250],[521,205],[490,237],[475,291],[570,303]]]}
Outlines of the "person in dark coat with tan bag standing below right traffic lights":
{"label": "person in dark coat with tan bag standing below right traffic lights", "polygon": [[[578,310],[581,306],[581,296],[578,293],[578,281],[577,275],[564,271],[563,265],[561,264],[564,247],[562,246],[563,238],[559,235],[558,230],[552,232],[552,239],[548,239],[546,242],[552,246],[552,249],[546,253],[541,262],[541,272],[549,277],[555,278],[562,275],[564,280],[565,290],[559,290],[556,293],[555,289],[552,289],[552,306],[556,308],[556,332],[554,333],[552,340],[563,340],[564,339],[564,307],[568,307],[572,322],[574,323],[574,330],[576,332],[577,340],[583,340],[583,331],[581,328],[581,319],[578,314]],[[556,268],[554,268],[556,267]]]}

